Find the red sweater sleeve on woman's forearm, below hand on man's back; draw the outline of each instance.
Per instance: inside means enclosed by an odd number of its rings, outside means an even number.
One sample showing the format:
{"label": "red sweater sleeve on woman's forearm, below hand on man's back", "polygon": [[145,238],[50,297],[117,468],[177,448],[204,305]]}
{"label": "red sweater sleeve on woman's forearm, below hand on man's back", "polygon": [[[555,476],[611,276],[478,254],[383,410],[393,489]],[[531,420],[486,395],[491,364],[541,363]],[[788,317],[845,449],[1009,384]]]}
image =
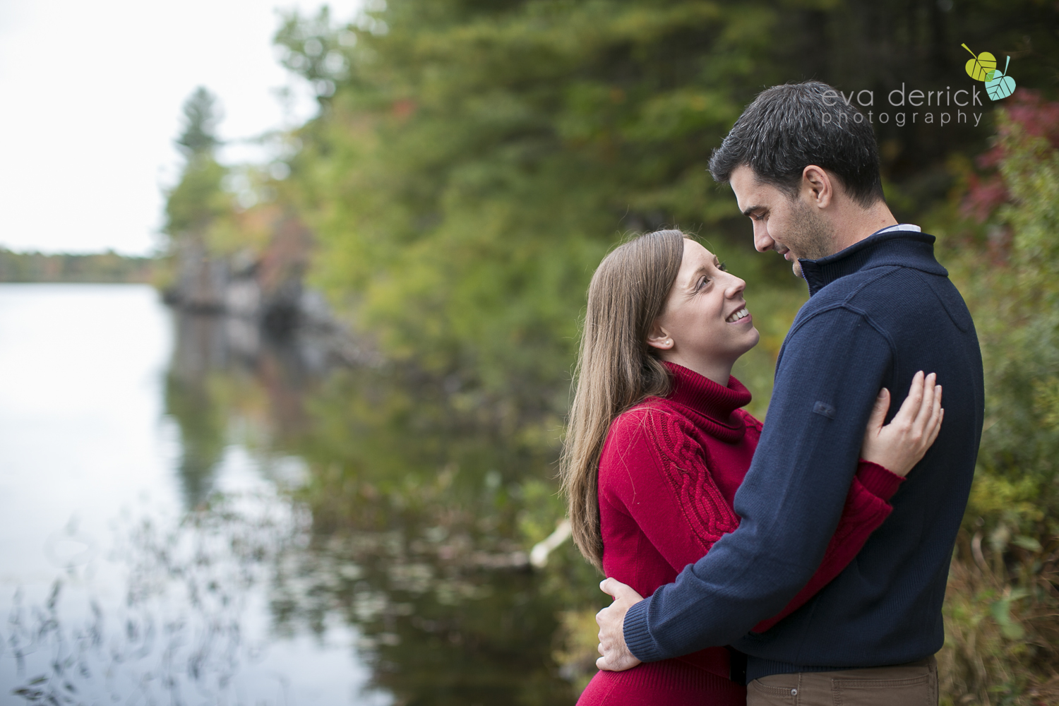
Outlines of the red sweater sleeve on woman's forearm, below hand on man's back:
{"label": "red sweater sleeve on woman's forearm, below hand on man's back", "polygon": [[849,486],[846,504],[842,510],[839,526],[827,544],[824,561],[804,589],[776,615],[754,626],[753,632],[762,633],[788,615],[802,608],[816,592],[842,573],[857,553],[864,546],[868,536],[890,517],[893,506],[887,502],[897,492],[904,478],[890,472],[878,464],[863,458],[858,461],[857,475]]}

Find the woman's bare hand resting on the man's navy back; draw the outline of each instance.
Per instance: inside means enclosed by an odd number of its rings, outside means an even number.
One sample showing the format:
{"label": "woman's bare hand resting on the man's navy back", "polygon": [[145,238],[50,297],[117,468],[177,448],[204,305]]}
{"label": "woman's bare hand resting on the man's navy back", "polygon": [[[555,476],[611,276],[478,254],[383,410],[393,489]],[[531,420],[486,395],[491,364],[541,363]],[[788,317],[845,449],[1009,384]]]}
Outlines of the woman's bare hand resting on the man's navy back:
{"label": "woman's bare hand resting on the man's navy back", "polygon": [[922,370],[912,378],[909,396],[897,415],[883,426],[890,410],[890,391],[879,393],[872,410],[861,445],[861,458],[879,464],[897,475],[904,476],[934,443],[941,429],[941,385],[933,373]]}

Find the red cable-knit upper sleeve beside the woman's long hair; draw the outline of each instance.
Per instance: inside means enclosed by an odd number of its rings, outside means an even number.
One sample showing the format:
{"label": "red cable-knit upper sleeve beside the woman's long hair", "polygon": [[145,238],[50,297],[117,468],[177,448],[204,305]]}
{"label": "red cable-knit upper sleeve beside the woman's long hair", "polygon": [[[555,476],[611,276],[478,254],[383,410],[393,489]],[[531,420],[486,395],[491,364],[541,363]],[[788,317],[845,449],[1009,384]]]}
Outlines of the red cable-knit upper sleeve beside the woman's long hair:
{"label": "red cable-knit upper sleeve beside the woman's long hair", "polygon": [[705,453],[670,414],[636,410],[611,435],[599,463],[599,500],[629,515],[676,572],[738,526]]}

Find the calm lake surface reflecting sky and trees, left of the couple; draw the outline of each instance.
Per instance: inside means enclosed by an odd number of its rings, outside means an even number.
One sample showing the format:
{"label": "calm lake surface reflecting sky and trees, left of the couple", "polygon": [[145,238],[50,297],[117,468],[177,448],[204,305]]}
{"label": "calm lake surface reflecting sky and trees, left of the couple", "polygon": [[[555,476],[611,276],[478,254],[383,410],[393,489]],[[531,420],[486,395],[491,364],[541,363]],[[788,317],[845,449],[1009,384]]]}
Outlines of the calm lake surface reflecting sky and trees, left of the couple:
{"label": "calm lake surface reflecting sky and trees, left of the couple", "polygon": [[525,567],[548,459],[459,381],[324,358],[149,287],[0,285],[0,704],[576,699],[591,575]]}

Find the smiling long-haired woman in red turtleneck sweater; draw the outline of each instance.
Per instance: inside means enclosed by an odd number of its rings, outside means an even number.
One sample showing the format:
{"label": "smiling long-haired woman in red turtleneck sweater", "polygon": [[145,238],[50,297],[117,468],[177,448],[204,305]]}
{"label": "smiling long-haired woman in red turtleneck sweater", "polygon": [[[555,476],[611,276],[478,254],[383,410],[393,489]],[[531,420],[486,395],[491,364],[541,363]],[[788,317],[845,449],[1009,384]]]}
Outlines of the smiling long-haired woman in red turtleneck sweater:
{"label": "smiling long-haired woman in red turtleneck sweater", "polygon": [[[746,283],[679,231],[640,236],[599,265],[589,287],[577,390],[562,458],[578,548],[607,576],[648,596],[734,530],[733,510],[760,438],[732,366],[759,334]],[[820,569],[767,630],[811,598],[890,513],[886,501],[933,443],[940,386],[918,374],[894,422],[880,393],[862,459]],[[887,470],[889,469],[889,470]],[[578,704],[742,706],[730,653],[600,671]]]}

